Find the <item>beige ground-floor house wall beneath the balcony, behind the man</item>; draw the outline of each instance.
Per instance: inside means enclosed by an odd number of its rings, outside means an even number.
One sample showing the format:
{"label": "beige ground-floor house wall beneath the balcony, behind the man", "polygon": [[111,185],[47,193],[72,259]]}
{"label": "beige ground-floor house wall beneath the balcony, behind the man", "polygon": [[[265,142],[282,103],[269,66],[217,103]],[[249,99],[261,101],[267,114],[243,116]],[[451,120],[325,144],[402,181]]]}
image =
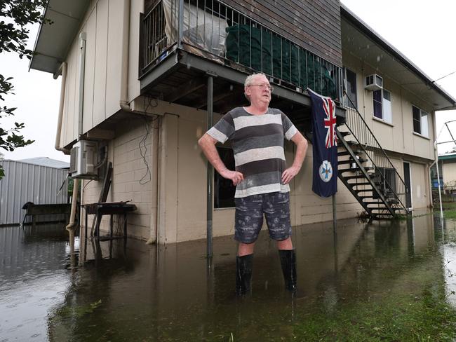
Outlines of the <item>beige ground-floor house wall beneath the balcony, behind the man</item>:
{"label": "beige ground-floor house wall beneath the balcony, behind the man", "polygon": [[[116,138],[109,144],[114,176],[108,200],[132,200],[138,206],[138,211],[128,219],[129,235],[143,240],[158,239],[161,243],[206,238],[207,162],[198,146],[199,137],[206,132],[206,111],[166,102],[159,102],[154,111],[160,115],[159,127],[147,137],[147,151],[152,151],[147,160],[149,168],[156,170],[152,179],[156,177],[158,182],[144,186],[139,183],[147,169],[138,154],[145,128],[140,122],[129,123],[116,131]],[[220,117],[215,114],[214,121]],[[294,153],[294,144],[286,143],[288,165],[293,163]],[[290,183],[293,226],[333,219],[332,199],[319,198],[311,191],[311,155],[309,146],[300,174]],[[101,185],[102,182],[91,182],[83,202],[96,202]],[[338,189],[337,217],[354,217],[361,212],[361,205],[340,182]],[[103,227],[107,228],[107,219]],[[213,235],[233,233],[234,208],[213,210]]]}

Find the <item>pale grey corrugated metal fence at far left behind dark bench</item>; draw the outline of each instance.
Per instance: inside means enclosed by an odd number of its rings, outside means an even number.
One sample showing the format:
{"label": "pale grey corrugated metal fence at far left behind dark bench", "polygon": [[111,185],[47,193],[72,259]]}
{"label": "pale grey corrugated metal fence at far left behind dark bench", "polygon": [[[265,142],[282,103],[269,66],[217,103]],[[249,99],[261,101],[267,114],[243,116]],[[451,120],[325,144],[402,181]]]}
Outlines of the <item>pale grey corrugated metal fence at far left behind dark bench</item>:
{"label": "pale grey corrugated metal fence at far left behind dark bench", "polygon": [[27,202],[67,203],[67,184],[60,193],[58,189],[68,170],[17,160],[2,160],[0,163],[5,170],[5,177],[0,180],[0,224],[20,224],[25,216],[22,206]]}

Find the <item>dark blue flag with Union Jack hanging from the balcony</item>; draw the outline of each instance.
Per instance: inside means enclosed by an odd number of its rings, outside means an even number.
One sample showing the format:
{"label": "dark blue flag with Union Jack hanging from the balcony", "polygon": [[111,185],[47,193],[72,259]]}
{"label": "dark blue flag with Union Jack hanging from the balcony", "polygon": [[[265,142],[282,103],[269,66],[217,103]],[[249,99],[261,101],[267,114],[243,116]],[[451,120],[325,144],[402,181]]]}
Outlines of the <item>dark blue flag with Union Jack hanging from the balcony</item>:
{"label": "dark blue flag with Union Jack hanging from the balcony", "polygon": [[335,103],[330,97],[309,90],[312,102],[312,148],[314,172],[312,191],[321,197],[337,192],[337,140],[335,133]]}

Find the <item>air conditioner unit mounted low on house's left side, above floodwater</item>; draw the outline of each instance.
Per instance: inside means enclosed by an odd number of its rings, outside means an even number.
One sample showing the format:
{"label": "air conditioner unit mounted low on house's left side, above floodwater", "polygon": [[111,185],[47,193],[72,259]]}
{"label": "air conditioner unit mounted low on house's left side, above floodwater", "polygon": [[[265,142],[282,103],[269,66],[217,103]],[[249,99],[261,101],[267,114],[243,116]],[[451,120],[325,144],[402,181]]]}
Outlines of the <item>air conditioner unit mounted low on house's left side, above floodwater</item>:
{"label": "air conditioner unit mounted low on house's left side, above floodwater", "polygon": [[98,160],[98,144],[89,140],[79,140],[70,151],[69,173],[73,178],[98,179],[95,169]]}

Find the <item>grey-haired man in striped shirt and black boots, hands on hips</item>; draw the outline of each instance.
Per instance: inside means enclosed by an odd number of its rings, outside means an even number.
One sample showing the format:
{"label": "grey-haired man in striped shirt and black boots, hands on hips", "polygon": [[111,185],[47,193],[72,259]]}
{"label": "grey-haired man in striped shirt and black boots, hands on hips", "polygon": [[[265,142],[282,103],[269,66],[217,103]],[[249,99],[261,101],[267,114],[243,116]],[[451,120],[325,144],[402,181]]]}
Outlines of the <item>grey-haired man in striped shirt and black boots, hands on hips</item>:
{"label": "grey-haired man in striped shirt and black boots, hands on hips", "polygon": [[[286,288],[296,291],[296,254],[291,242],[290,183],[301,170],[307,140],[279,109],[269,108],[272,87],[264,74],[246,78],[244,94],[248,107],[225,114],[201,139],[199,146],[215,170],[236,186],[234,238],[236,294],[250,290],[253,249],[266,217],[269,237],[277,241]],[[283,138],[296,146],[295,160],[286,168]],[[236,170],[228,170],[215,148],[231,140]]]}

